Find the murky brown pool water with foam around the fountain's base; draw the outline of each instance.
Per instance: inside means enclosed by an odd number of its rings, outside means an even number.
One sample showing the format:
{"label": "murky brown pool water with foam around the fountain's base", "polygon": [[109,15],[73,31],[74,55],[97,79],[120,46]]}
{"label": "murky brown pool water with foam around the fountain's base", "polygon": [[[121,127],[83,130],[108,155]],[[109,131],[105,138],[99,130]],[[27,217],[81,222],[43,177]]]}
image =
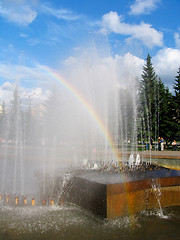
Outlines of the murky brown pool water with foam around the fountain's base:
{"label": "murky brown pool water with foam around the fountain's base", "polygon": [[105,220],[75,205],[0,206],[0,239],[177,239],[180,208],[158,210]]}

